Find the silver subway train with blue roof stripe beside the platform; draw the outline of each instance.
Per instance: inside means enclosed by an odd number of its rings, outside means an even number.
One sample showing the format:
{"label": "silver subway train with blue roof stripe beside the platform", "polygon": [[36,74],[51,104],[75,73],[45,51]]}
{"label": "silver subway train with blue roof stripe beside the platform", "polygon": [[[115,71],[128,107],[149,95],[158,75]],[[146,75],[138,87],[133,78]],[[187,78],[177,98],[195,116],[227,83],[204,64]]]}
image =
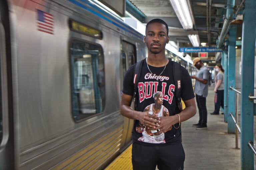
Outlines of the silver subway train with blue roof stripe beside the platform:
{"label": "silver subway train with blue roof stripe beside the platform", "polygon": [[93,1],[1,0],[0,169],[106,167],[131,144],[120,96],[142,40]]}

